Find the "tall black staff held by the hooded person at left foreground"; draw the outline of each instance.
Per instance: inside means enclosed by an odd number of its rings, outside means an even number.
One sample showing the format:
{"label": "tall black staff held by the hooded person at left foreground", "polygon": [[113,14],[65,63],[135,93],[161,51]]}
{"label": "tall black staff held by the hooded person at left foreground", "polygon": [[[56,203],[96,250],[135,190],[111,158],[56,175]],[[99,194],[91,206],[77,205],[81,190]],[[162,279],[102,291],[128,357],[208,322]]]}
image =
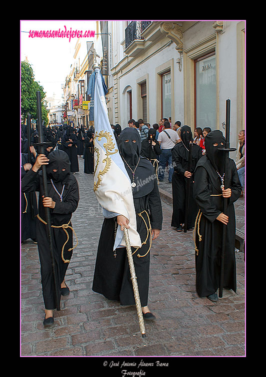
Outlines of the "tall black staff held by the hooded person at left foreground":
{"label": "tall black staff held by the hooded person at left foreground", "polygon": [[[40,101],[40,91],[36,91],[36,97],[37,97],[37,119],[38,119],[38,140],[39,142],[37,145],[39,146],[39,152],[40,154],[44,154],[44,146],[51,145],[50,142],[43,142],[43,133],[42,133],[42,122],[41,122],[41,101]],[[44,197],[46,198],[48,195],[48,188],[47,188],[47,175],[46,175],[46,165],[41,165],[42,169],[42,182],[43,182],[43,192]],[[55,303],[56,303],[56,309],[60,310],[60,298],[59,298],[59,292],[57,289],[57,279],[56,279],[56,271],[55,271],[55,260],[54,260],[54,254],[53,254],[53,243],[52,243],[52,234],[51,234],[51,216],[50,216],[50,209],[48,207],[44,207],[45,211],[45,220],[46,220],[46,232],[48,237],[48,243],[49,243],[49,249],[50,249],[50,256],[51,256],[51,268],[52,268],[52,275],[53,275],[53,283],[54,283],[54,295],[55,295]]]}

